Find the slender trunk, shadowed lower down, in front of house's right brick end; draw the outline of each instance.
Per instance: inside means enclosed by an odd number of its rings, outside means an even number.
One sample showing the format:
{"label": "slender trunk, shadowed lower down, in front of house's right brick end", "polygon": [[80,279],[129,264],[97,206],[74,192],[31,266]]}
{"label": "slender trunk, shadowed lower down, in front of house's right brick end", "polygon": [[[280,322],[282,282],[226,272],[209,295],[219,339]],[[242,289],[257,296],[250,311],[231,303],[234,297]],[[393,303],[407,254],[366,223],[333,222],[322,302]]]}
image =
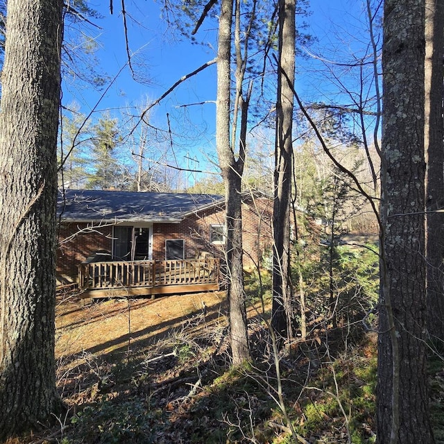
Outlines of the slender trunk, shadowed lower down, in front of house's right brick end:
{"label": "slender trunk, shadowed lower down, in front of house's right brick end", "polygon": [[271,325],[283,337],[291,336],[289,282],[291,155],[295,71],[296,0],[279,3],[279,67],[276,101],[275,196],[273,207],[273,307]]}

